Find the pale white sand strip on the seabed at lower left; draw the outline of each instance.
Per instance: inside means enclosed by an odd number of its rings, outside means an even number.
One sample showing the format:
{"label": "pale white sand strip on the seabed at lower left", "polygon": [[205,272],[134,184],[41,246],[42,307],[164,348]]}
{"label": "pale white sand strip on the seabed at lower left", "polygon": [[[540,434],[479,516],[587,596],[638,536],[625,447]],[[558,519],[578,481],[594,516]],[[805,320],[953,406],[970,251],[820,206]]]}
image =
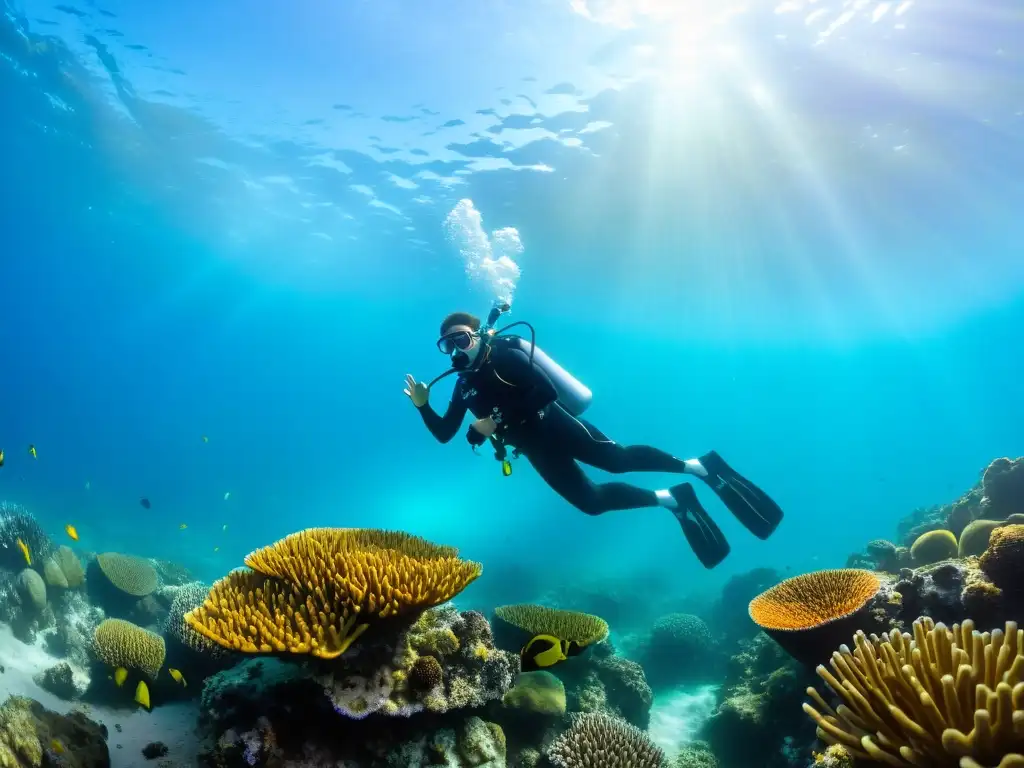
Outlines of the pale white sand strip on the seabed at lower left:
{"label": "pale white sand strip on the seabed at lower left", "polygon": [[[38,642],[42,642],[41,640]],[[52,667],[57,662],[40,645],[26,645],[11,634],[10,627],[0,625],[0,702],[11,694],[29,696],[48,710],[67,714],[72,709],[83,711],[92,720],[106,726],[106,744],[111,751],[112,768],[139,768],[150,763],[142,757],[142,748],[151,741],[163,741],[169,750],[163,761],[174,766],[198,765],[199,739],[195,735],[197,706],[190,702],[175,702],[156,707],[146,712],[131,702],[131,692],[125,694],[129,706],[124,709],[85,705],[79,701],[65,701],[40,688],[33,680],[38,673]],[[88,682],[84,670],[76,670],[72,665],[75,682],[82,687]],[[118,731],[117,725],[121,726]],[[120,744],[120,749],[118,749]]]}

